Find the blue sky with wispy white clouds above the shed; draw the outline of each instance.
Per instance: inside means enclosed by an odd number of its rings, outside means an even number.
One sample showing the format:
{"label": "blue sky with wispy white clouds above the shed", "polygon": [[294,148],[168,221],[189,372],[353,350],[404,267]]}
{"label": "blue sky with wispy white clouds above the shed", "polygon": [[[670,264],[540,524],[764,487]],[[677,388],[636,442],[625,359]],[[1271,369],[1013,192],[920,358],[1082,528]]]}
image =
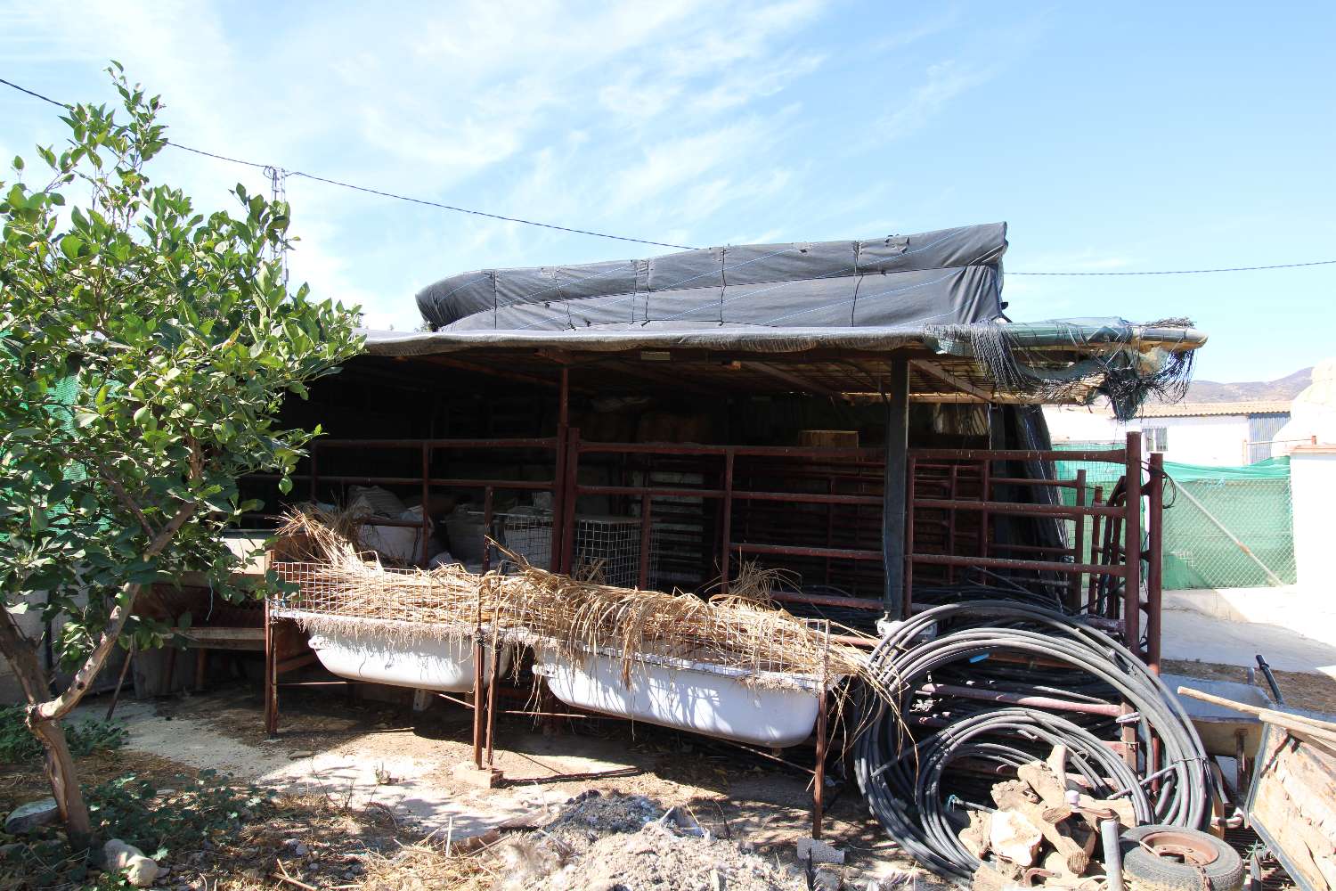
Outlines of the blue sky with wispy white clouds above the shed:
{"label": "blue sky with wispy white clouds above the shed", "polygon": [[[927,7],[925,9],[925,7]],[[1007,220],[1009,271],[1336,258],[1331,3],[262,4],[0,1],[0,76],[170,136],[433,200],[707,246]],[[63,139],[0,91],[0,156]],[[203,207],[258,171],[168,150]],[[293,275],[418,323],[448,274],[655,248],[289,179]],[[1336,354],[1336,266],[1021,278],[1015,319],[1192,317],[1198,375]]]}

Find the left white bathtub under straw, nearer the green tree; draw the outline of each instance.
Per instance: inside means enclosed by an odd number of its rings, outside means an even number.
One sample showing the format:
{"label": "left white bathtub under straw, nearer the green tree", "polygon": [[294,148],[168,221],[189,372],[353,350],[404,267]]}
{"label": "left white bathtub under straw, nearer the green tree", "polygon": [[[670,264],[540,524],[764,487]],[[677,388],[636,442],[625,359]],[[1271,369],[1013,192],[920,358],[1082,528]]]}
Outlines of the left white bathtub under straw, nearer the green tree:
{"label": "left white bathtub under straw, nearer the green tree", "polygon": [[[302,620],[298,610],[279,613]],[[314,617],[311,613],[307,616]],[[473,689],[473,640],[438,639],[429,635],[390,633],[389,622],[373,618],[345,620],[347,629],[325,628],[311,633],[311,649],[325,668],[339,677],[462,693]],[[486,632],[484,632],[486,633]],[[497,669],[510,668],[512,647],[502,645]],[[492,683],[492,648],[484,649],[484,684]]]}

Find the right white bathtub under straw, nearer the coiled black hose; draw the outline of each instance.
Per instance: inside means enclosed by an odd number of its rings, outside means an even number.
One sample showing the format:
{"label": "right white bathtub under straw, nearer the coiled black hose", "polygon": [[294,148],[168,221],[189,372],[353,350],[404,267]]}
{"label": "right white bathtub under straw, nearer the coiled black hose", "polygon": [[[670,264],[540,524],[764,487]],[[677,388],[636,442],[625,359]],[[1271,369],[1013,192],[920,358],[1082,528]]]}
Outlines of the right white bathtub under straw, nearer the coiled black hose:
{"label": "right white bathtub under straw, nearer the coiled black hose", "polygon": [[767,673],[760,684],[748,684],[740,669],[657,656],[636,660],[628,687],[613,652],[572,664],[556,649],[538,647],[533,671],[568,705],[771,748],[811,735],[822,696],[811,676]]}

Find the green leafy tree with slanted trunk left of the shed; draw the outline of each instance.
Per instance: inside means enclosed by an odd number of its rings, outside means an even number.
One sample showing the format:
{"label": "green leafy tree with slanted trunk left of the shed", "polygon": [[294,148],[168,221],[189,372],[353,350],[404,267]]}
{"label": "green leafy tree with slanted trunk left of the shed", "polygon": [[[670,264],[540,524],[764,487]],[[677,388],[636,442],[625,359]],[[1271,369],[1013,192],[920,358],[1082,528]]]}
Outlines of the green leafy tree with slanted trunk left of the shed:
{"label": "green leafy tree with slanted trunk left of the shed", "polygon": [[[257,508],[236,480],[291,489],[319,430],[279,429],[279,405],[361,346],[355,310],[289,290],[285,203],[236,186],[239,212],[204,215],[150,182],[162,102],[107,71],[122,108],[68,108],[67,148],[37,148],[44,186],[20,158],[0,183],[0,652],[77,847],[92,839],[60,719],[118,644],[162,641],[135,616],[146,585],[196,569],[243,596],[218,534]],[[64,617],[61,689],[24,610]]]}

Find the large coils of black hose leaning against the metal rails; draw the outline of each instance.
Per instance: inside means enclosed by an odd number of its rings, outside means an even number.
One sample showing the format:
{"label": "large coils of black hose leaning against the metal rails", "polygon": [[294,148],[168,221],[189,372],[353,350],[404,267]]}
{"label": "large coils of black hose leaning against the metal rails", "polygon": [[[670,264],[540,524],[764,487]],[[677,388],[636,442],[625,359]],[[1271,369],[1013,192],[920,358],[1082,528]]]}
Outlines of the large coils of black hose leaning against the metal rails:
{"label": "large coils of black hose leaning against the metal rails", "polygon": [[[921,640],[933,629],[949,633]],[[1092,689],[1130,704],[1132,713],[1102,719],[1093,727],[1038,708],[981,708],[947,697],[925,712],[915,692],[943,673],[961,676],[995,655],[1013,653],[1070,667],[1037,669],[1035,689],[1061,691],[1075,681],[1089,701]],[[1209,816],[1209,773],[1205,752],[1186,712],[1168,687],[1141,660],[1108,635],[1047,609],[1014,602],[962,602],[925,610],[902,622],[878,644],[871,665],[883,689],[895,692],[895,708],[868,697],[863,735],[854,749],[855,772],[872,815],[907,854],[959,884],[969,884],[979,860],[957,839],[942,796],[951,764],[962,757],[1018,767],[1062,744],[1071,769],[1097,797],[1124,795],[1138,822],[1200,828]],[[1005,672],[1017,691],[1022,673]],[[967,672],[965,672],[967,673]],[[1066,673],[1066,679],[1063,679]],[[942,729],[908,736],[906,717],[946,720]],[[1078,715],[1090,723],[1089,716]],[[1134,727],[1137,767],[1118,757],[1106,741],[1122,727]],[[1154,783],[1149,779],[1154,777]]]}

